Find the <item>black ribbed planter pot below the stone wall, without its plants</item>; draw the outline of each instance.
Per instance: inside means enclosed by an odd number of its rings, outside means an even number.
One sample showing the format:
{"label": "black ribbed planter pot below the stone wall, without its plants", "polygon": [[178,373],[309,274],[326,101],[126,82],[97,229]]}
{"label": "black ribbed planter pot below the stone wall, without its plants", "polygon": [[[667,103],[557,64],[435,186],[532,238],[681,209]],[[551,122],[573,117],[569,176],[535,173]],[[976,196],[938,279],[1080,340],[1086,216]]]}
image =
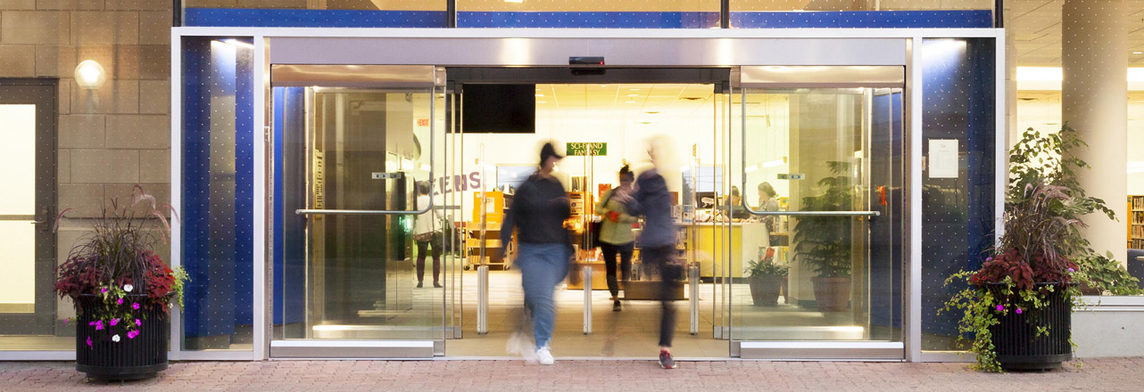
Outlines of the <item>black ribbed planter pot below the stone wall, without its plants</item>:
{"label": "black ribbed planter pot below the stone wall, without its plants", "polygon": [[[143,295],[128,295],[125,301],[140,302]],[[167,369],[167,312],[162,310],[138,310],[143,319],[140,335],[127,338],[120,334],[119,342],[112,342],[106,329],[96,330],[88,322],[95,321],[94,309],[98,298],[84,295],[76,299],[79,315],[76,322],[76,370],[95,379],[141,379],[154,377]],[[87,345],[87,338],[92,345]]]}

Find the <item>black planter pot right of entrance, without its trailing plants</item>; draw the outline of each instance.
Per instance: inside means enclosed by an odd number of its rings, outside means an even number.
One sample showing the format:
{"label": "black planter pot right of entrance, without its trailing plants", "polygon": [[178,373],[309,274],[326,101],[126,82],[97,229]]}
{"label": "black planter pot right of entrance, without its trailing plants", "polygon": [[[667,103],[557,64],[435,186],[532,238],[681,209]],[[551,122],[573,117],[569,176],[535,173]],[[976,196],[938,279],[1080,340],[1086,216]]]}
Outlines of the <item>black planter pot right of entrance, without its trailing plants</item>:
{"label": "black planter pot right of entrance, without its trailing plants", "polygon": [[[998,362],[1006,370],[1048,370],[1060,368],[1072,360],[1068,343],[1072,329],[1072,303],[1064,285],[1036,283],[1036,288],[1052,286],[1048,306],[1035,312],[1017,314],[1009,310],[998,314],[1000,323],[990,327]],[[1000,297],[1001,283],[991,288]],[[1038,327],[1048,327],[1048,334],[1036,336]]]}

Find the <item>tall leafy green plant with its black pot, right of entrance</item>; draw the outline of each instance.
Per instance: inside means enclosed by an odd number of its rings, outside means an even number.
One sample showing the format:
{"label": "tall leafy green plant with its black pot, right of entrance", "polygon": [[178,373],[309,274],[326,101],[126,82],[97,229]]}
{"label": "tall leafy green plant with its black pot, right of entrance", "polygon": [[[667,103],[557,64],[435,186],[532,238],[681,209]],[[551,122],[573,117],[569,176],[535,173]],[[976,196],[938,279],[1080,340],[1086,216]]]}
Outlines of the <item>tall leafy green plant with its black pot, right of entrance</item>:
{"label": "tall leafy green plant with its black pot, right of entrance", "polygon": [[1088,165],[1071,151],[1083,145],[1067,123],[1050,135],[1030,128],[1010,151],[1004,232],[992,256],[946,280],[966,285],[942,312],[961,313],[959,342],[970,341],[977,369],[1051,369],[1072,359],[1080,271],[1094,259],[1080,217],[1114,218],[1077,181]]}

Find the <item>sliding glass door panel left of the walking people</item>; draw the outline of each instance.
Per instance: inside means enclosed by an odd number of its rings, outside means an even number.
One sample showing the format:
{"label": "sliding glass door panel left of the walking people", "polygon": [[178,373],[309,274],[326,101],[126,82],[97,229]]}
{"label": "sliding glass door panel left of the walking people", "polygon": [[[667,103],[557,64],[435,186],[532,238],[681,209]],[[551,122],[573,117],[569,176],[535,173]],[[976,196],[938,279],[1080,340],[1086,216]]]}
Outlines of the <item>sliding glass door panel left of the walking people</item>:
{"label": "sliding glass door panel left of the walking people", "polygon": [[283,219],[296,222],[284,226],[283,338],[444,338],[435,91],[305,88],[304,121],[283,135]]}

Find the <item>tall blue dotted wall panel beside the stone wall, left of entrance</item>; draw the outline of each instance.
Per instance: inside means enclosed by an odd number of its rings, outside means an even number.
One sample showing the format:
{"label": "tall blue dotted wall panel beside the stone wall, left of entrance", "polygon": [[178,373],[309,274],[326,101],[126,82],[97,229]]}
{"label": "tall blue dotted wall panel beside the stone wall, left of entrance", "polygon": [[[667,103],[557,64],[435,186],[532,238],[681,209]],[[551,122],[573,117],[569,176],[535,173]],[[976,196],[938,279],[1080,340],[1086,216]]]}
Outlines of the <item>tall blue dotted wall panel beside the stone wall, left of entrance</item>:
{"label": "tall blue dotted wall panel beside the stone wall, left of entrance", "polygon": [[189,350],[228,349],[253,323],[253,50],[188,39],[183,53],[183,254]]}

